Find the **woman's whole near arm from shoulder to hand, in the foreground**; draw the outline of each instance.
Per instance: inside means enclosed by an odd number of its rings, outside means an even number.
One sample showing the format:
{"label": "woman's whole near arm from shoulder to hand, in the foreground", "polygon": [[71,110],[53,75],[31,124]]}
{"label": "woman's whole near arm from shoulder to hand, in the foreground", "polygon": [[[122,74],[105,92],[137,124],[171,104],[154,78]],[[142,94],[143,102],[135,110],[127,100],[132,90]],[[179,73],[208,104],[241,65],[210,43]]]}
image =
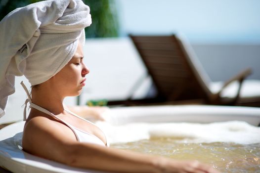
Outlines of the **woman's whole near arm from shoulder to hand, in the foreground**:
{"label": "woman's whole near arm from shoulder to hand, in the foreground", "polygon": [[74,167],[119,173],[218,173],[197,161],[176,161],[131,151],[77,142],[59,122],[35,117],[25,126],[23,149]]}

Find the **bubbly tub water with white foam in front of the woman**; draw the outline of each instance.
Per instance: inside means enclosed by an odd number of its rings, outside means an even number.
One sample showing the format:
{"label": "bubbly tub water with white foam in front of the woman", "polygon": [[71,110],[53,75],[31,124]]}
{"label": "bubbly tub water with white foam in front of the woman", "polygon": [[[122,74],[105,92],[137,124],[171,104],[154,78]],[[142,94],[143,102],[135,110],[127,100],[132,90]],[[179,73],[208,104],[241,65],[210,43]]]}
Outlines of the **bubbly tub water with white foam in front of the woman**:
{"label": "bubbly tub water with white foam in front of the woman", "polygon": [[199,160],[224,173],[260,173],[260,128],[245,122],[97,124],[114,148]]}

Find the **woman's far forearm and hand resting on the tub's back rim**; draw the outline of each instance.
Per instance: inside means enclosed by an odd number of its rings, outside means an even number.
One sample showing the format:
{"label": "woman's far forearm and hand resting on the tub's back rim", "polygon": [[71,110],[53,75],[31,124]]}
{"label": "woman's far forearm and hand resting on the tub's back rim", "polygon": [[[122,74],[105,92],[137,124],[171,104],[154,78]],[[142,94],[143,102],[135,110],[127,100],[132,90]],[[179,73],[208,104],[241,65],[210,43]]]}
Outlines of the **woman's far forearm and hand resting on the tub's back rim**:
{"label": "woman's far forearm and hand resting on the tub's back rim", "polygon": [[92,121],[106,121],[109,118],[109,108],[105,106],[67,106],[67,108],[82,118]]}

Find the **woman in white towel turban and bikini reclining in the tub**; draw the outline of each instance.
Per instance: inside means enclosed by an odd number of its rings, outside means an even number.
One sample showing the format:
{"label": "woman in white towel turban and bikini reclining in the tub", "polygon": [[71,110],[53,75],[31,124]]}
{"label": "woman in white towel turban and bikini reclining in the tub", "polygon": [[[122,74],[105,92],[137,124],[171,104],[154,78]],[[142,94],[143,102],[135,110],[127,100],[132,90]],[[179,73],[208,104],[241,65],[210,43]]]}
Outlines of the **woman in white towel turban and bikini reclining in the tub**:
{"label": "woman in white towel turban and bikini reclining in the tub", "polygon": [[[12,21],[18,16],[18,23]],[[9,61],[0,68],[4,70],[4,78],[0,78],[2,112],[6,97],[14,92],[10,85],[14,75],[25,75],[33,86],[31,98],[22,84],[28,95],[26,104],[31,104],[23,131],[23,150],[69,166],[111,172],[218,173],[197,161],[109,148],[99,128],[64,108],[63,99],[79,95],[86,85],[89,70],[83,62],[83,45],[84,28],[91,23],[89,17],[89,8],[81,0],[48,0],[17,9],[0,22],[4,40],[0,41],[0,51],[9,48],[1,63],[7,58]],[[20,25],[16,28],[22,32],[17,30],[16,34],[21,37],[2,34],[9,25]]]}

